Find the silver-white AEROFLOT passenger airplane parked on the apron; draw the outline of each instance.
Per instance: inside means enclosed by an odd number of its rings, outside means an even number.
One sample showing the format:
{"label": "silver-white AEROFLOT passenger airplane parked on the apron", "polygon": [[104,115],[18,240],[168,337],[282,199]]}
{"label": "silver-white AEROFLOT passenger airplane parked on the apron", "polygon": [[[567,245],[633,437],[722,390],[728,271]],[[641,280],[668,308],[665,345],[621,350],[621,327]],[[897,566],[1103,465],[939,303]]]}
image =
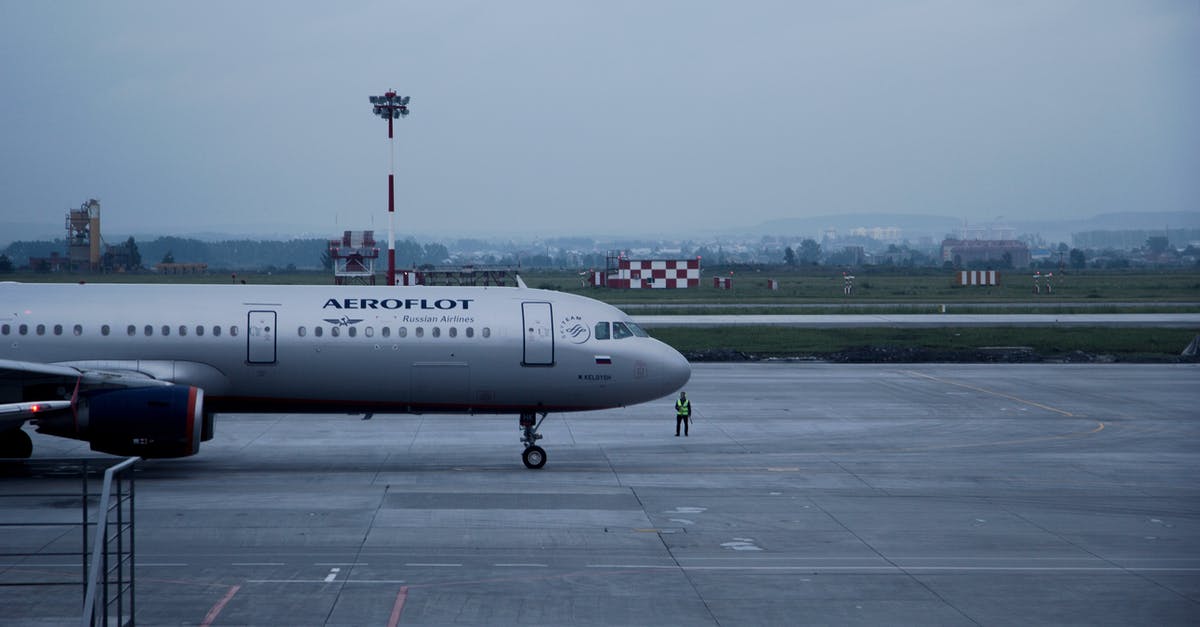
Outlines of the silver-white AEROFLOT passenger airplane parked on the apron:
{"label": "silver-white AEROFLOT passenger airplane parked on the apron", "polygon": [[[607,304],[518,287],[0,283],[0,458],[22,426],[193,455],[220,412],[547,412],[682,388],[688,360]],[[541,419],[538,419],[538,414]]]}

